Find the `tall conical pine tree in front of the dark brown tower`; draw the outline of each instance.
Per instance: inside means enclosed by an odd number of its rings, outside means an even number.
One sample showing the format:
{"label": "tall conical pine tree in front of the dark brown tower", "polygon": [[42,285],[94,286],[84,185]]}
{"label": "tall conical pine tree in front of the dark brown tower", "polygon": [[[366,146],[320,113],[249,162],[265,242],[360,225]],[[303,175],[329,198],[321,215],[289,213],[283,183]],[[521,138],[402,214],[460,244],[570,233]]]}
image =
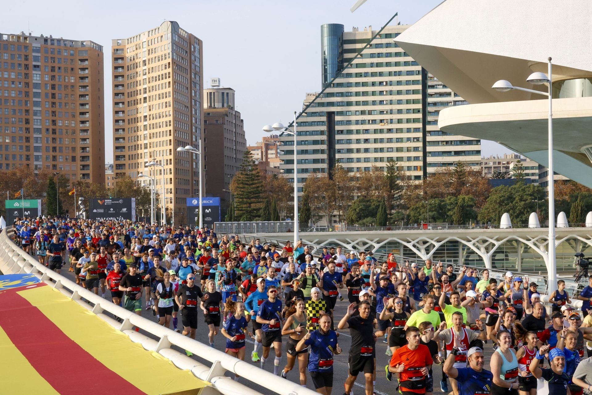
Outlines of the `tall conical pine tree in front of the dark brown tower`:
{"label": "tall conical pine tree in front of the dark brown tower", "polygon": [[246,150],[240,171],[234,176],[236,191],[234,191],[234,207],[236,220],[255,221],[260,218],[263,206],[263,179],[259,166]]}

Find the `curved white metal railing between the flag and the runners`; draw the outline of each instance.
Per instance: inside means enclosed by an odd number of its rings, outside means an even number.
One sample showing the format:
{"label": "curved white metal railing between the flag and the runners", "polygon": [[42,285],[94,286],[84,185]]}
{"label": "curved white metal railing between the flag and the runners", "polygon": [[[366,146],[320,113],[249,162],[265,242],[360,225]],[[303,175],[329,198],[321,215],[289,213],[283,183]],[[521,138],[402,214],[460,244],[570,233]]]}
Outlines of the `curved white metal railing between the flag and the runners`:
{"label": "curved white metal railing between the flag and the runners", "polygon": [[[91,310],[96,316],[115,329],[126,333],[131,341],[141,343],[144,349],[158,352],[163,357],[170,359],[179,369],[189,370],[195,377],[208,381],[211,383],[211,390],[215,390],[215,393],[224,395],[260,395],[258,391],[250,388],[250,385],[240,384],[234,381],[233,378],[226,377],[224,372],[229,371],[242,377],[242,380],[249,381],[249,384],[258,384],[280,395],[316,394],[316,392],[306,387],[271,374],[248,362],[231,357],[222,351],[211,348],[209,345],[163,327],[112,303],[110,300],[95,295],[63,275],[57,274],[46,268],[46,266],[39,264],[33,256],[22,251],[11,240],[13,233],[12,227],[7,227],[4,232],[0,233],[0,271],[2,273],[31,273],[36,275],[41,281],[46,282],[46,284],[56,288],[65,296],[81,304],[81,306]],[[121,319],[122,322],[118,322],[105,313],[111,313],[114,317]],[[133,330],[134,326],[145,330],[156,339],[136,332]],[[191,351],[194,355],[211,362],[211,367],[172,349],[171,346],[173,345]]]}

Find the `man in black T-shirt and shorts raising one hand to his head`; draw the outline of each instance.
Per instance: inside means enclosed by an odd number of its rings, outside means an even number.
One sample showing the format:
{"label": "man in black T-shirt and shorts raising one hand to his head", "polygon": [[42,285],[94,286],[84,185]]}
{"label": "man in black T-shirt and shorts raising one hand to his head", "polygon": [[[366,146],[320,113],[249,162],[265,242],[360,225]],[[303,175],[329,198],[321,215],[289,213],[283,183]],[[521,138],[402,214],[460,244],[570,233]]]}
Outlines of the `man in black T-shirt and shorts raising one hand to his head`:
{"label": "man in black T-shirt and shorts raising one hand to his head", "polygon": [[359,303],[358,316],[353,316],[356,309],[356,304],[352,303],[348,306],[348,311],[343,316],[339,325],[339,329],[349,328],[352,336],[352,345],[349,351],[349,371],[348,378],[345,381],[345,394],[352,391],[353,383],[358,378],[358,374],[363,372],[365,378],[366,395],[374,393],[374,376],[375,367],[375,345],[377,336],[374,335],[374,328],[372,327],[372,317],[370,316],[371,305],[368,301],[361,301]]}

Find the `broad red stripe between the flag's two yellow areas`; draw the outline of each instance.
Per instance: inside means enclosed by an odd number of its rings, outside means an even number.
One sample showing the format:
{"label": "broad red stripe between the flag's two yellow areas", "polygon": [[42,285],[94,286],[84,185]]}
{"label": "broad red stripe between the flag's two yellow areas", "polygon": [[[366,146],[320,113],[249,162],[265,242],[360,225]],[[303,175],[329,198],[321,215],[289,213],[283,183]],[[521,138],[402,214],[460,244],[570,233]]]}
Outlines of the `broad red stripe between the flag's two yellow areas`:
{"label": "broad red stripe between the flag's two yellow areas", "polygon": [[[62,395],[144,394],[105,367],[15,292],[0,293],[0,326],[33,368]],[[92,334],[89,334],[92,336]]]}

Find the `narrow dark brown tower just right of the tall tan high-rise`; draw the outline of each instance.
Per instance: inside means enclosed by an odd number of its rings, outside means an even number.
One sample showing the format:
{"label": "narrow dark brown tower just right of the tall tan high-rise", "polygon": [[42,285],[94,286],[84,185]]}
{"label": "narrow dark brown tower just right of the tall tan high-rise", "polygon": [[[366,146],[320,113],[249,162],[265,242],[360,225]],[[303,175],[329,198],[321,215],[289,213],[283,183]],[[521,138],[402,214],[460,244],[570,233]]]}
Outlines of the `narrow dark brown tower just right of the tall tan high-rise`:
{"label": "narrow dark brown tower just right of the tall tan high-rise", "polygon": [[243,163],[247,140],[240,112],[235,109],[234,89],[211,79],[204,89],[204,178],[205,195],[220,196],[221,205],[230,204],[230,182]]}

